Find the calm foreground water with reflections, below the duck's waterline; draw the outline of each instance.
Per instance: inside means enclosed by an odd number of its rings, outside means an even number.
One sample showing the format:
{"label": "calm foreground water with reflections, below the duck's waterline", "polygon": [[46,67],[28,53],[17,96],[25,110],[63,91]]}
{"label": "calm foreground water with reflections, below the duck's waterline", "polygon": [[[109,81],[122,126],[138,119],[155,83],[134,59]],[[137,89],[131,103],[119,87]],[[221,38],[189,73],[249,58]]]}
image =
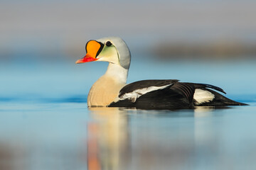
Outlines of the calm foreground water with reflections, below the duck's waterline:
{"label": "calm foreground water with reflections, below the duck's waterline", "polygon": [[1,107],[1,170],[256,169],[256,103],[89,114],[84,103],[50,106]]}

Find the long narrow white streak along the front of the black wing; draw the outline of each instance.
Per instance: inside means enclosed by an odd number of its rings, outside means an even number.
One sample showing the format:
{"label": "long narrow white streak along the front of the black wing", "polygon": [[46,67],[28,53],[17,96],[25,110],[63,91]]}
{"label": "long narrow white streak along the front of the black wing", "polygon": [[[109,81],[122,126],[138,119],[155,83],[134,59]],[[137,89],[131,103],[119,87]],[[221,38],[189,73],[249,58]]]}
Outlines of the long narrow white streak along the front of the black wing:
{"label": "long narrow white streak along the front of the black wing", "polygon": [[117,101],[122,101],[122,100],[125,100],[125,99],[129,99],[134,103],[137,100],[137,98],[139,98],[140,96],[142,96],[144,94],[147,94],[151,91],[161,90],[161,89],[164,89],[167,86],[171,86],[171,85],[172,84],[167,84],[166,86],[149,86],[149,87],[146,87],[146,88],[143,88],[143,89],[137,89],[137,90],[134,90],[134,91],[129,92],[127,94],[123,94],[122,96],[117,98],[116,102]]}

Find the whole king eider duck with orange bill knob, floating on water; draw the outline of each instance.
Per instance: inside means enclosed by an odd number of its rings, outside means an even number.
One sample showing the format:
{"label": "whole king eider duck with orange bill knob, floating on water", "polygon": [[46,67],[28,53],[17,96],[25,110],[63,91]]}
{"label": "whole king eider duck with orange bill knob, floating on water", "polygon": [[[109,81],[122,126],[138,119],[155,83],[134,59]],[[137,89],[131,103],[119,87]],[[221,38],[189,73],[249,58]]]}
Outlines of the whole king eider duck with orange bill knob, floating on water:
{"label": "whole king eider duck with orange bill knob, floating on water", "polygon": [[131,54],[118,37],[90,40],[87,54],[76,63],[109,62],[107,72],[92,85],[88,107],[127,107],[142,109],[179,109],[195,106],[243,106],[219,94],[223,89],[210,84],[179,82],[176,79],[151,79],[126,84]]}

